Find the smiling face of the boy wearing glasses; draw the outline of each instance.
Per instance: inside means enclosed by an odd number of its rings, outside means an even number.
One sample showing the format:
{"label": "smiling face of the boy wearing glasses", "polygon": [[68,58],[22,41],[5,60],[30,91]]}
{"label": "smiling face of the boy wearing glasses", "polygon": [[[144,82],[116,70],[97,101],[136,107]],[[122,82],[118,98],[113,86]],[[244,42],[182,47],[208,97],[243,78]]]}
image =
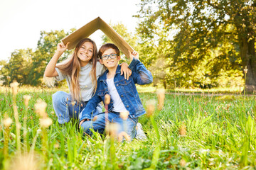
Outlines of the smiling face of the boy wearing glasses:
{"label": "smiling face of the boy wearing glasses", "polygon": [[[108,56],[105,56],[105,55],[108,55]],[[112,56],[110,56],[110,55],[112,55]],[[106,58],[107,58],[107,60],[105,60]],[[114,49],[109,48],[109,49],[105,50],[105,52],[103,52],[102,58],[100,59],[100,64],[104,64],[105,67],[107,67],[107,69],[110,69],[110,68],[117,67],[120,59],[121,59],[121,57],[117,56],[117,52],[115,52]]]}

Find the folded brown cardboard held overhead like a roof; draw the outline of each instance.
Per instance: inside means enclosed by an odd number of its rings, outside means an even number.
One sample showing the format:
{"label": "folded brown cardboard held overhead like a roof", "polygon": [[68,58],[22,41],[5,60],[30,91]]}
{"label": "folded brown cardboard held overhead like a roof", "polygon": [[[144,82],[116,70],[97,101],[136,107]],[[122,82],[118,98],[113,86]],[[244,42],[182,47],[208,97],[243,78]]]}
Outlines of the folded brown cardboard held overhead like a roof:
{"label": "folded brown cardboard held overhead like a roof", "polygon": [[90,21],[90,23],[87,23],[85,26],[82,26],[78,30],[75,30],[75,32],[66,36],[61,41],[64,44],[70,42],[70,44],[68,45],[68,50],[71,50],[78,44],[78,42],[80,42],[80,40],[89,37],[98,29],[102,30],[102,32],[105,33],[105,35],[107,35],[107,37],[109,37],[114,42],[114,45],[117,45],[119,50],[121,50],[124,55],[126,55],[126,57],[129,59],[128,50],[133,52],[134,50],[132,49],[132,47],[100,17],[95,18],[94,20]]}

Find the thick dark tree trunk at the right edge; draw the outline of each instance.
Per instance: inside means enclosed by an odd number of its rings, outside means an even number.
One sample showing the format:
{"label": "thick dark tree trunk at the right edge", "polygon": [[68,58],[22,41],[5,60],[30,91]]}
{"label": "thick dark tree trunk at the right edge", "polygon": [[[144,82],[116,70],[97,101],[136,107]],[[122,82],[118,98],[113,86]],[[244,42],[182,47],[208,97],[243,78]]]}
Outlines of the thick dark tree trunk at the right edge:
{"label": "thick dark tree trunk at the right edge", "polygon": [[[242,59],[242,69],[244,69],[246,91],[252,93],[256,91],[256,55],[255,38],[248,40],[240,37],[240,56]],[[247,67],[247,73],[245,73]]]}

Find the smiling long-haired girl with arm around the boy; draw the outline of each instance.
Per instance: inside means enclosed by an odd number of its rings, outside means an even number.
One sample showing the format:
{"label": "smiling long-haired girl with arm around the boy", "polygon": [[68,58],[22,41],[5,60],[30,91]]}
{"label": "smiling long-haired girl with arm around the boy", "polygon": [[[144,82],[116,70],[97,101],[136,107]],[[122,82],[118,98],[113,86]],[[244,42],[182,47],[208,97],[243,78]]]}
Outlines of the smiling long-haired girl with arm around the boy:
{"label": "smiling long-haired girl with arm around the boy", "polygon": [[[66,79],[68,83],[70,94],[64,91],[53,94],[53,108],[60,124],[68,123],[70,118],[78,118],[97,89],[97,78],[105,72],[105,67],[97,62],[97,46],[90,38],[82,39],[75,47],[73,55],[57,64],[60,56],[68,49],[68,44],[69,42],[66,45],[63,42],[58,43],[55,55],[44,73],[46,77],[55,77],[57,81]],[[130,70],[126,63],[122,64],[121,72],[128,79]],[[97,111],[102,112],[99,105]]]}

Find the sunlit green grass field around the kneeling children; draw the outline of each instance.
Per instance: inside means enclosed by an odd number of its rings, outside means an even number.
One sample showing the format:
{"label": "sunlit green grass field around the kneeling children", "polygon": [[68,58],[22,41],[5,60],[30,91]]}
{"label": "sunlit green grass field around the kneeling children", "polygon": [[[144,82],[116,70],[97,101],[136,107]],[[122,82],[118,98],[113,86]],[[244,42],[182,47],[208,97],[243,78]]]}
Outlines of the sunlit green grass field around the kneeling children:
{"label": "sunlit green grass field around the kneeling children", "polygon": [[[82,135],[75,120],[58,125],[51,104],[55,91],[21,86],[14,96],[11,89],[1,87],[0,169],[256,167],[255,95],[174,91],[165,94],[159,111],[154,89],[142,91],[144,108],[153,111],[139,118],[147,139],[117,142],[96,132],[92,137]],[[31,96],[28,107],[24,95]],[[36,113],[39,98],[47,103],[47,116]]]}

